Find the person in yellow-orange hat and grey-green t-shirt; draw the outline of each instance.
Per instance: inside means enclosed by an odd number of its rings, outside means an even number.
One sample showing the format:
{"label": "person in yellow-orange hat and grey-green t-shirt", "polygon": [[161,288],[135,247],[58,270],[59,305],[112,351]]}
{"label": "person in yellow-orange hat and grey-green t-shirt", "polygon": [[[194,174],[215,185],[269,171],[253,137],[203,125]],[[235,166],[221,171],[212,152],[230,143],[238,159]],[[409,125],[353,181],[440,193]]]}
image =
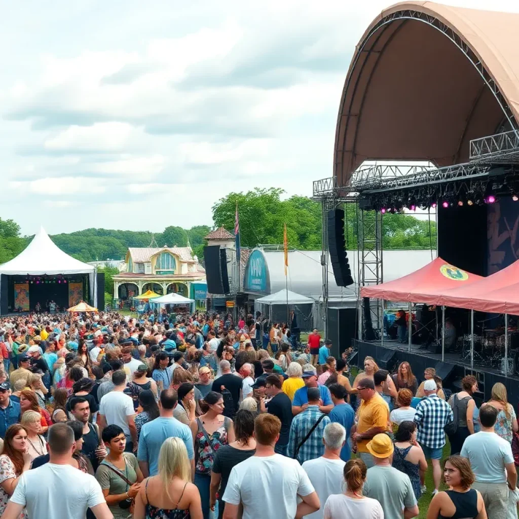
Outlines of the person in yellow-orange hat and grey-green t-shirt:
{"label": "person in yellow-orange hat and grey-green t-shirt", "polygon": [[[367,470],[363,494],[376,499],[384,510],[385,519],[403,519],[419,514],[409,476],[391,467],[393,442],[385,433],[376,434],[366,448],[375,465]],[[414,515],[413,515],[414,514]]]}

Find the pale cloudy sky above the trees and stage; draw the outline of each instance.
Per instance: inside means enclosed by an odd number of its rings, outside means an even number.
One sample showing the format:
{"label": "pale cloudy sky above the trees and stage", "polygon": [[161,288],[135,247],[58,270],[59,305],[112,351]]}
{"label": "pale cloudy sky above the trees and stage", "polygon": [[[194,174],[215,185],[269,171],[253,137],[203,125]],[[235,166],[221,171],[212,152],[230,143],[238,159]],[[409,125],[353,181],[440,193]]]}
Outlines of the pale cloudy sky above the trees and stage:
{"label": "pale cloudy sky above the trees and stage", "polygon": [[389,4],[3,3],[0,217],[158,231],[211,225],[230,191],[310,195],[332,175],[354,46]]}

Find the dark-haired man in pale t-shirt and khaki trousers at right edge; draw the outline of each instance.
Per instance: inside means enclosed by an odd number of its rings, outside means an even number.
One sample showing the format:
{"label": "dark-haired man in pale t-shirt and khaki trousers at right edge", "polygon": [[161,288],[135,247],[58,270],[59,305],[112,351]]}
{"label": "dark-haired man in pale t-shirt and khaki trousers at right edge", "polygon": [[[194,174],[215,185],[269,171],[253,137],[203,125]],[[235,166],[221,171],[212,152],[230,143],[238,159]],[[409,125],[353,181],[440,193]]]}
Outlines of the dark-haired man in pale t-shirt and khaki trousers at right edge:
{"label": "dark-haired man in pale t-shirt and khaki trousers at right edge", "polygon": [[498,413],[491,404],[481,406],[481,431],[465,440],[460,453],[470,461],[475,477],[472,488],[480,491],[491,519],[506,518],[508,487],[517,484],[512,447],[494,431]]}

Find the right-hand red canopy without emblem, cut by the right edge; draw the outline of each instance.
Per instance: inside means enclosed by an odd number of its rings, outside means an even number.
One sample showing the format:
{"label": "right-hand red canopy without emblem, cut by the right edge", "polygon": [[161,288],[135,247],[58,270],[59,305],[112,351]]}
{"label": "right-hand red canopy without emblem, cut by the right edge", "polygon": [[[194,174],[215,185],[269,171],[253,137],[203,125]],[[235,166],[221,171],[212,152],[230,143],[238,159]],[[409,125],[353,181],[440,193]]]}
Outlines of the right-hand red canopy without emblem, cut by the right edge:
{"label": "right-hand red canopy without emblem, cut by the right edge", "polygon": [[519,314],[519,260],[475,283],[448,290],[440,305]]}

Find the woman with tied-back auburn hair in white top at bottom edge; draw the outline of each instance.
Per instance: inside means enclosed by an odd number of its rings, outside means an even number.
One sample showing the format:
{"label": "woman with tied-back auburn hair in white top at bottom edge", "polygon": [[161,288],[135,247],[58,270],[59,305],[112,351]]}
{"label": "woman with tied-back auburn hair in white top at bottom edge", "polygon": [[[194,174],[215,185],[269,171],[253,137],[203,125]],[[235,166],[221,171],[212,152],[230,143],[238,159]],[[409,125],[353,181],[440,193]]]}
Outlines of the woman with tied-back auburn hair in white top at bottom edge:
{"label": "woman with tied-back auburn hair in white top at bottom edge", "polygon": [[367,467],[361,459],[350,459],[344,466],[344,494],[330,496],[324,505],[324,519],[384,519],[376,499],[364,497],[362,487]]}

